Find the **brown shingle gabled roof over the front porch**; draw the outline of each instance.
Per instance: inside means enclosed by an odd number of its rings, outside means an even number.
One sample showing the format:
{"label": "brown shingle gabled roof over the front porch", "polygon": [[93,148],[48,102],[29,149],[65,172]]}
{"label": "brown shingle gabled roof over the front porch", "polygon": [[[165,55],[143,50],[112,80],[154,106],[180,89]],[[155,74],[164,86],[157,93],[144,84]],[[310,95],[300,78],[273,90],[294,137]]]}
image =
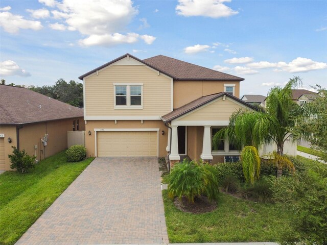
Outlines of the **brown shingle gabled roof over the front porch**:
{"label": "brown shingle gabled roof over the front porch", "polygon": [[177,117],[180,117],[181,115],[184,115],[185,113],[193,111],[194,109],[196,109],[202,105],[205,105],[206,103],[211,102],[223,95],[226,95],[226,96],[230,97],[231,99],[233,99],[253,110],[256,110],[256,111],[259,110],[258,108],[240,100],[238,97],[232,96],[232,95],[228,94],[227,92],[221,92],[221,93],[215,93],[215,94],[211,94],[211,95],[202,96],[199,99],[196,99],[196,100],[190,102],[189,104],[183,105],[177,109],[174,109],[172,112],[170,112],[164,116],[161,116],[161,119],[164,121],[171,121],[171,120],[173,120]]}

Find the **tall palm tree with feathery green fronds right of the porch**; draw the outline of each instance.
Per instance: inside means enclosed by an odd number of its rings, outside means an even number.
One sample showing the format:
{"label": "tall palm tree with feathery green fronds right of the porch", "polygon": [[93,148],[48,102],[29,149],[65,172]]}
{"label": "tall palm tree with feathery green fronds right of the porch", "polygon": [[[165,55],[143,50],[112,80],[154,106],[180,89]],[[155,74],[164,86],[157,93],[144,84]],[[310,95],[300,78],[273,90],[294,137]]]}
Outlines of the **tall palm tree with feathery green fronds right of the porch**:
{"label": "tall palm tree with feathery green fronds right of the porch", "polygon": [[[298,105],[292,101],[292,88],[301,85],[299,77],[293,77],[284,88],[275,86],[267,96],[267,113],[262,111],[239,110],[229,119],[229,125],[218,131],[213,139],[214,147],[221,139],[228,138],[239,150],[244,146],[259,149],[265,143],[277,145],[277,155],[283,156],[284,143],[294,139],[294,126],[298,116]],[[277,177],[282,176],[286,163],[278,158]],[[255,169],[252,169],[255,171]]]}

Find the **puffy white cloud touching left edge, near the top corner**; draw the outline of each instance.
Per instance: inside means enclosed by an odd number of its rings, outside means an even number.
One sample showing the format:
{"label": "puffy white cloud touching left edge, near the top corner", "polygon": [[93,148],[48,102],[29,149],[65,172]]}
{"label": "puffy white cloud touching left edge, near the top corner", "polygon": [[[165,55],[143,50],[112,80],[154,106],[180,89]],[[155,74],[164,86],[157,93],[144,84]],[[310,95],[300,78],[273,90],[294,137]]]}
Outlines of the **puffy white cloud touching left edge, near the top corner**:
{"label": "puffy white cloud touching left edge, near the top corner", "polygon": [[19,29],[32,29],[38,31],[42,29],[40,21],[27,20],[23,16],[14,15],[10,12],[0,13],[0,27],[9,33],[18,33]]}

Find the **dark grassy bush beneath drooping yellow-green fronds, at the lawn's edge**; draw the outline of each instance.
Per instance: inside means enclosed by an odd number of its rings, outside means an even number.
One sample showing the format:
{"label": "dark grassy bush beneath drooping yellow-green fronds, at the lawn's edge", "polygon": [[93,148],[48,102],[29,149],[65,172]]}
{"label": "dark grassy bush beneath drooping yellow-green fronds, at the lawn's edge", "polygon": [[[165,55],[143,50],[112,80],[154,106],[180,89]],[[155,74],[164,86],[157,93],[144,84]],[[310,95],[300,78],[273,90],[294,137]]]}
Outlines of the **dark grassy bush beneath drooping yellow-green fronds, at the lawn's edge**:
{"label": "dark grassy bush beneath drooping yellow-green fronds, at the lawn's edge", "polygon": [[254,202],[272,202],[271,184],[266,179],[254,182],[252,185],[245,185],[242,188],[242,196]]}

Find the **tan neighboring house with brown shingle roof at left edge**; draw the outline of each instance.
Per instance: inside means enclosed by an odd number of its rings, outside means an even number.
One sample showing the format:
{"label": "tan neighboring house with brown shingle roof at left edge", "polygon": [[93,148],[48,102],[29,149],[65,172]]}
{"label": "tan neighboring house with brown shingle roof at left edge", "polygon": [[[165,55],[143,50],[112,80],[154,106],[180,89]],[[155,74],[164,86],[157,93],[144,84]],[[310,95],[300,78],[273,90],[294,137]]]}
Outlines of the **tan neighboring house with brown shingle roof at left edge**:
{"label": "tan neighboring house with brown shingle roof at left edge", "polygon": [[37,160],[67,148],[67,131],[85,130],[83,109],[26,88],[0,85],[0,170],[15,146]]}

